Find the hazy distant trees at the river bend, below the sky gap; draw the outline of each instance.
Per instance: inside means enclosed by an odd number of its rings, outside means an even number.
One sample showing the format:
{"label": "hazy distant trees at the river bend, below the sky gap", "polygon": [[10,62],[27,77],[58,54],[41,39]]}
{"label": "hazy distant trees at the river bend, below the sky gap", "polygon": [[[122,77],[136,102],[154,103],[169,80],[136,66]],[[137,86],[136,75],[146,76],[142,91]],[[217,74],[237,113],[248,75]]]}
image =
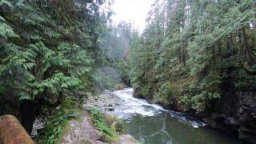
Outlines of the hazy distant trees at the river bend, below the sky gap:
{"label": "hazy distant trees at the river bend, below the sky gap", "polygon": [[[130,86],[128,61],[132,25],[119,22],[118,26],[110,23],[108,31],[102,38],[100,45],[102,51],[102,68],[98,70],[98,87],[100,89],[113,89],[118,83]],[[109,67],[106,67],[109,66]],[[110,70],[110,71],[109,71]]]}

